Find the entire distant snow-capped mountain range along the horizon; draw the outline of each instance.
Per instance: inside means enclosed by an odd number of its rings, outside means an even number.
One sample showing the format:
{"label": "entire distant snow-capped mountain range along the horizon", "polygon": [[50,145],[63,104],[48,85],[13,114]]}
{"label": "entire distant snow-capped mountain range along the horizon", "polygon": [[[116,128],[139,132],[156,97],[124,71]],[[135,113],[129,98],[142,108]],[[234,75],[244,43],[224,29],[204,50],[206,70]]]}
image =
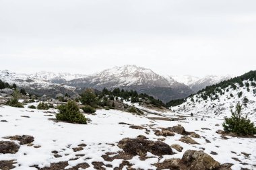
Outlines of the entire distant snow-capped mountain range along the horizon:
{"label": "entire distant snow-capped mountain range along the horizon", "polygon": [[11,71],[0,71],[0,79],[24,87],[36,95],[54,97],[57,93],[78,95],[84,88],[134,89],[139,93],[147,93],[164,102],[171,99],[184,98],[208,85],[230,79],[227,77],[208,76],[199,79],[193,76],[162,76],[151,69],[125,65],[106,69],[94,75],[52,73],[41,71],[34,74],[17,74]]}

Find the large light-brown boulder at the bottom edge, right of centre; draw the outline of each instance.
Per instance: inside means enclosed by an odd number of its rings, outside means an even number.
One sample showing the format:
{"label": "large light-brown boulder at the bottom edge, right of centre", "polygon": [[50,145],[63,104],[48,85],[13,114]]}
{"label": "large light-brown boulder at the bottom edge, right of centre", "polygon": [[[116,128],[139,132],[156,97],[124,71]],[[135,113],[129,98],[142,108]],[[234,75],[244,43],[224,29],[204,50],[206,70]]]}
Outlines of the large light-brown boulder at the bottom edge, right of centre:
{"label": "large light-brown boulder at the bottom edge, right of centre", "polygon": [[219,162],[203,151],[188,150],[184,153],[181,161],[191,167],[191,170],[211,170],[220,167]]}

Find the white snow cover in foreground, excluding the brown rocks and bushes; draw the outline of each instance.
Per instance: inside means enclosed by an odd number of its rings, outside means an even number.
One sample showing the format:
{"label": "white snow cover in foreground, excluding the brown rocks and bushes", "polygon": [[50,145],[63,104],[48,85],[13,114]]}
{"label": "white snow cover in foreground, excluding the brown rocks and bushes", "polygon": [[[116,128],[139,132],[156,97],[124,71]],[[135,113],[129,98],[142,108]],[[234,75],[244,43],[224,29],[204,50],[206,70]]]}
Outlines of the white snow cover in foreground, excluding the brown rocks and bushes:
{"label": "white snow cover in foreground, excluding the brown rocks and bushes", "polygon": [[[68,166],[65,169],[79,163],[88,163],[90,167],[87,169],[95,169],[94,162],[104,163],[102,167],[105,169],[114,169],[119,167],[123,160],[105,161],[102,155],[122,151],[117,143],[123,138],[136,138],[143,135],[148,140],[154,141],[164,138],[163,142],[168,145],[179,144],[183,147],[183,151],[178,152],[172,148],[176,154],[166,155],[162,158],[148,153],[150,158],[144,161],[135,156],[128,160],[135,169],[156,169],[155,163],[170,158],[181,159],[188,149],[204,150],[221,164],[234,164],[232,169],[256,169],[256,139],[230,136],[222,138],[220,134],[216,133],[216,130],[222,129],[223,122],[218,118],[206,118],[205,121],[201,121],[188,117],[187,120],[164,121],[150,120],[147,116],[137,116],[117,110],[97,110],[96,115],[86,115],[92,122],[87,125],[79,125],[50,120],[55,118],[54,112],[57,110],[40,111],[0,106],[0,138],[2,141],[11,141],[3,138],[5,136],[30,135],[34,137],[33,146],[24,144],[20,146],[18,153],[0,154],[0,161],[16,160],[16,164],[14,164],[16,170],[49,167],[52,163],[61,161],[68,161]],[[168,112],[168,114],[174,116],[172,112]],[[148,116],[153,117],[152,114]],[[166,113],[163,116],[166,116]],[[158,116],[154,117],[160,117],[159,111]],[[119,124],[121,122],[125,124]],[[133,129],[128,124],[141,126],[144,129]],[[167,137],[155,134],[155,131],[160,128],[178,124],[181,124],[189,132],[199,134],[201,138],[193,138],[199,144],[186,144],[179,141],[183,136],[181,134],[175,133],[174,136]],[[12,141],[18,144],[18,141]],[[79,148],[78,145],[82,148],[80,147],[81,149],[75,152],[74,148]],[[213,152],[215,154],[212,154]]]}

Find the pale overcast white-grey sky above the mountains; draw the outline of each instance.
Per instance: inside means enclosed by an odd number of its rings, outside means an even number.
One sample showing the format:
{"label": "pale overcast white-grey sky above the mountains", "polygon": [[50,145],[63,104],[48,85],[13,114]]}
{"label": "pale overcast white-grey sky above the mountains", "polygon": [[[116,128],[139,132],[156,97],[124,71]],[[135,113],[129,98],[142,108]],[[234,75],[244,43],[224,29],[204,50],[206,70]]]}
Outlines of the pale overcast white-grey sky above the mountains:
{"label": "pale overcast white-grey sky above the mountains", "polygon": [[256,70],[255,0],[0,0],[0,70]]}

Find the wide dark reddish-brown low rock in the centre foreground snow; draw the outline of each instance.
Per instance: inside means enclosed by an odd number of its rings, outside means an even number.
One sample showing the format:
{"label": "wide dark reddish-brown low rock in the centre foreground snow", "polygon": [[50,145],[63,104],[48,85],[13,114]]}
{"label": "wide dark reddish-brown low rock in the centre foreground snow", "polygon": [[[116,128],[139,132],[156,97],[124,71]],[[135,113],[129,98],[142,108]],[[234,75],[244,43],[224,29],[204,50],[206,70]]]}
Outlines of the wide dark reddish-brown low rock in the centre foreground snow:
{"label": "wide dark reddish-brown low rock in the centre foreground snow", "polygon": [[125,153],[133,156],[139,155],[140,157],[145,157],[148,152],[158,156],[173,154],[172,148],[168,144],[142,138],[124,138],[119,142],[118,146]]}

